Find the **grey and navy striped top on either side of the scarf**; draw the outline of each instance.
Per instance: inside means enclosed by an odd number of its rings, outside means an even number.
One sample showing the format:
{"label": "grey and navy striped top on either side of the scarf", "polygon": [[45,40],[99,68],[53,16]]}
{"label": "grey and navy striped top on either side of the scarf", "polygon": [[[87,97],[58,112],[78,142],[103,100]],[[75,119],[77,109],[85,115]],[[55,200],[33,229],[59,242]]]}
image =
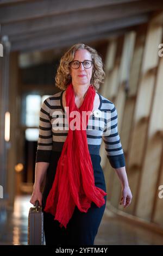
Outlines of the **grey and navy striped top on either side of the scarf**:
{"label": "grey and navy striped top on either side of the scarf", "polygon": [[[36,162],[50,162],[51,152],[61,152],[68,133],[66,109],[62,105],[64,90],[47,97],[40,109],[39,139]],[[117,111],[113,102],[97,93],[99,108],[91,113],[87,127],[90,154],[99,155],[102,139],[106,156],[113,168],[125,166],[123,149],[117,129]]]}

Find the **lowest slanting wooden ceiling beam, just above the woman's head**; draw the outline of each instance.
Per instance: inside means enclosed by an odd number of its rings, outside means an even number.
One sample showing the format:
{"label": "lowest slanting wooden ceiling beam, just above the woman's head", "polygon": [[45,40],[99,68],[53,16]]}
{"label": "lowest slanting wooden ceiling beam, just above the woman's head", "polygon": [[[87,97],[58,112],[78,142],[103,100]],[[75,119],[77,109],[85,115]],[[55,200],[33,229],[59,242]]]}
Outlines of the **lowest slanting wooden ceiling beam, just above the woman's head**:
{"label": "lowest slanting wooden ceiling beam, just above the woman's head", "polygon": [[[58,29],[58,31],[44,31],[41,34],[37,34],[35,37],[31,36],[27,38],[26,35],[21,38],[21,40],[15,38],[15,41],[11,41],[11,51],[24,51],[24,50],[32,50],[37,49],[37,47],[43,47],[44,45],[53,45],[53,44],[62,44],[63,41],[66,42],[68,40],[84,41],[86,38],[106,38],[109,36],[109,33],[117,31],[118,29],[123,29],[135,25],[139,25],[142,23],[146,23],[148,21],[148,15],[140,15],[136,17],[128,17],[127,19],[116,20],[112,23],[102,22],[95,25],[87,25],[83,27],[73,27],[71,28],[62,28]],[[40,32],[39,32],[40,33]],[[92,40],[92,39],[91,39]]]}

